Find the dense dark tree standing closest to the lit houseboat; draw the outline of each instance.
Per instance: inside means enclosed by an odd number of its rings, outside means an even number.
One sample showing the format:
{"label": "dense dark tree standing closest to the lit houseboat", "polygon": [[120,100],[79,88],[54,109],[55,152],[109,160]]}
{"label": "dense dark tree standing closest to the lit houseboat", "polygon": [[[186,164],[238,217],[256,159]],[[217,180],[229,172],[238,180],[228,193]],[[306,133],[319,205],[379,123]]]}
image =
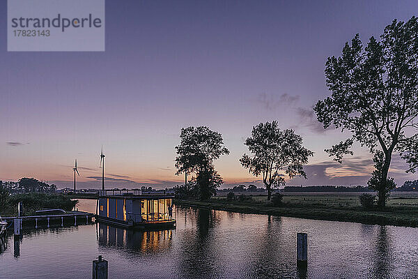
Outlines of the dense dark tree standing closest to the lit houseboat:
{"label": "dense dark tree standing closest to the lit houseboat", "polygon": [[199,199],[208,199],[216,193],[223,181],[213,163],[220,156],[229,154],[222,135],[206,126],[182,128],[180,144],[176,148],[176,174],[195,173],[192,179],[194,193]]}

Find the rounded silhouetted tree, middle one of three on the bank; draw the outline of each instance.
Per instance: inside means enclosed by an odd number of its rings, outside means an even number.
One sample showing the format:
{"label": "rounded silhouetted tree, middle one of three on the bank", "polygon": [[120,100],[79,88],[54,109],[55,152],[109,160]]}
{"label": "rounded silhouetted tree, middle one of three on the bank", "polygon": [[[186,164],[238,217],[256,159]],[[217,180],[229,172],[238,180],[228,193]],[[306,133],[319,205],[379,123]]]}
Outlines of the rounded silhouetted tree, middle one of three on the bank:
{"label": "rounded silhouetted tree, middle one of three on the bank", "polygon": [[240,162],[254,176],[263,175],[268,200],[272,195],[272,187],[285,183],[281,170],[290,178],[296,175],[307,177],[303,165],[314,153],[302,146],[302,137],[293,130],[280,130],[277,121],[254,126],[245,145],[253,156],[244,154]]}

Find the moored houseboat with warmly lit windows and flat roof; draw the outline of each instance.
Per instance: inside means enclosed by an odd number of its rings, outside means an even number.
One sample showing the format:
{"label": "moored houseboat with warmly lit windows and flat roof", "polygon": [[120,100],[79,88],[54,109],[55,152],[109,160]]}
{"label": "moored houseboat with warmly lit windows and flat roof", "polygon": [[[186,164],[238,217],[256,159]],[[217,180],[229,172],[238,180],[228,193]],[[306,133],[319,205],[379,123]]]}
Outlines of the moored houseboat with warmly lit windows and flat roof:
{"label": "moored houseboat with warmly lit windows and flat roof", "polygon": [[176,226],[173,195],[141,190],[100,190],[98,220],[122,227],[160,229]]}

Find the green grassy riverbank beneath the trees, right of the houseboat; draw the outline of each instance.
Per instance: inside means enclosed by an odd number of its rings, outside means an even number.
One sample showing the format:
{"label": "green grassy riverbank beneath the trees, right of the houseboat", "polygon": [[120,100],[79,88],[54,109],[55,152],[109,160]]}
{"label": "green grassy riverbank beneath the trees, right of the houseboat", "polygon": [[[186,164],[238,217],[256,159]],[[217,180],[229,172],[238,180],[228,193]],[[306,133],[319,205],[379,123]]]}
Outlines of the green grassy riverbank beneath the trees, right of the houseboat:
{"label": "green grassy riverbank beneath the trees, right of the houseboat", "polygon": [[[360,195],[360,193],[358,194]],[[272,206],[266,197],[252,197],[248,201],[212,197],[207,202],[176,200],[180,206],[196,206],[239,213],[268,214],[316,220],[336,220],[376,225],[418,227],[418,198],[402,195],[389,199],[384,211],[363,209],[358,195],[285,195],[281,206]]]}

